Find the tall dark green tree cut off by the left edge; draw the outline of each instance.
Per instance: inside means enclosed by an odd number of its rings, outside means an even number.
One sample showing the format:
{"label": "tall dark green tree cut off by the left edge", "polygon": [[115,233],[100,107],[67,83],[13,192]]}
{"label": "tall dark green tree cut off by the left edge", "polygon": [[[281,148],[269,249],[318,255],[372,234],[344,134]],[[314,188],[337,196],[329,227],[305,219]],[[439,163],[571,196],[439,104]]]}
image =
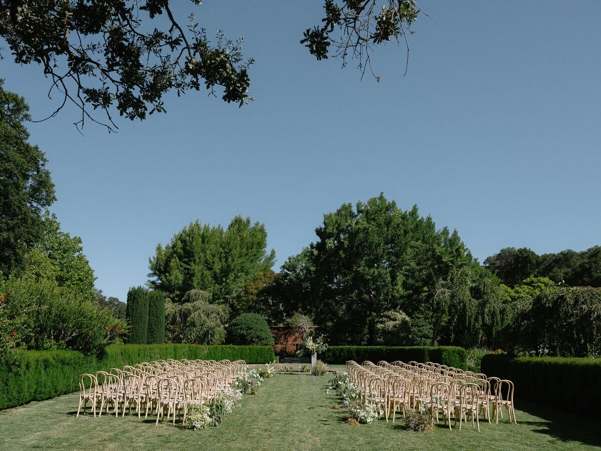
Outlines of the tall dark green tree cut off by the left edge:
{"label": "tall dark green tree cut off by the left edge", "polygon": [[[0,79],[0,89],[3,81]],[[4,91],[0,102],[0,272],[19,269],[26,251],[44,235],[43,211],[53,201],[54,184],[47,160],[27,142],[23,123],[29,106],[23,97]]]}

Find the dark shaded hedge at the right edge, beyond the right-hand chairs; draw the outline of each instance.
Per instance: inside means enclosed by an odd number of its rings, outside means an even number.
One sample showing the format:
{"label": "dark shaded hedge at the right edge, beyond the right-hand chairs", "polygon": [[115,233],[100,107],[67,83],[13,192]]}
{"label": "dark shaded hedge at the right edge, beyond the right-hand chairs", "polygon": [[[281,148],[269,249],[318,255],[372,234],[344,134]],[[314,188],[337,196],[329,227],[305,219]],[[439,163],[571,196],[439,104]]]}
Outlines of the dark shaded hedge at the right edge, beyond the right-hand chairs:
{"label": "dark shaded hedge at the right edge, beyond the right-hand chairs", "polygon": [[601,417],[601,359],[489,354],[482,358],[481,369],[487,376],[512,381],[515,400]]}

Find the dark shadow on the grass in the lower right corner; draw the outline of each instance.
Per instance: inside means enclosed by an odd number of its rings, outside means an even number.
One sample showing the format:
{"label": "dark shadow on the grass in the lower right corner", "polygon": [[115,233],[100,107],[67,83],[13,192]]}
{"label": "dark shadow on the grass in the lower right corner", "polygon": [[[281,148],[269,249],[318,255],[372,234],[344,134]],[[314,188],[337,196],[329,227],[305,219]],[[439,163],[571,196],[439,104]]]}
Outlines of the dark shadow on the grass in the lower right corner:
{"label": "dark shadow on the grass in the lower right corner", "polygon": [[560,408],[520,401],[520,410],[543,419],[543,421],[522,421],[517,424],[530,426],[533,432],[548,435],[556,441],[578,441],[583,444],[601,447],[596,419]]}

